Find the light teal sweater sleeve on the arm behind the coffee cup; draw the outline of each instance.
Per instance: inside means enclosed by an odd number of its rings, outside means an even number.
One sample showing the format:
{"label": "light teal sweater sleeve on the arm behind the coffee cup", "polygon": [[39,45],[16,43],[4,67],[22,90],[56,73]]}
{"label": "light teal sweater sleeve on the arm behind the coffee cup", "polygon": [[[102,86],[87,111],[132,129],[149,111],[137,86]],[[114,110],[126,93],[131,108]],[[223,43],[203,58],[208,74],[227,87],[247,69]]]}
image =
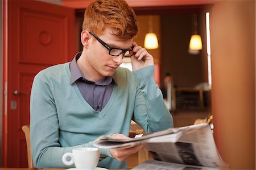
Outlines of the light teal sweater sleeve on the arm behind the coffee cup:
{"label": "light teal sweater sleeve on the arm behind the coffee cup", "polygon": [[[30,140],[32,160],[36,168],[71,168],[62,162],[66,152],[76,147],[94,147],[93,142],[79,146],[61,147],[59,122],[52,89],[58,88],[39,73],[33,82],[30,99]],[[109,150],[101,150],[101,159],[111,156]]]}

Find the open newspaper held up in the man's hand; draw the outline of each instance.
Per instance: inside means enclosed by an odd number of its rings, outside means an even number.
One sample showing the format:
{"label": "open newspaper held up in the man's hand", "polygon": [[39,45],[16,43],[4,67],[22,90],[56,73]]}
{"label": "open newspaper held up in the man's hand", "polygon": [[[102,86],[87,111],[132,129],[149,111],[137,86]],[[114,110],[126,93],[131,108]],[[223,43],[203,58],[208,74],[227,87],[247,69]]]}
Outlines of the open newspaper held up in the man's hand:
{"label": "open newspaper held up in the man's hand", "polygon": [[154,160],[203,167],[228,168],[228,164],[218,154],[212,130],[207,123],[168,128],[164,131],[145,134],[141,138],[118,139],[111,136],[101,136],[94,141],[94,146],[118,148],[132,147],[141,143],[146,143],[146,149]]}

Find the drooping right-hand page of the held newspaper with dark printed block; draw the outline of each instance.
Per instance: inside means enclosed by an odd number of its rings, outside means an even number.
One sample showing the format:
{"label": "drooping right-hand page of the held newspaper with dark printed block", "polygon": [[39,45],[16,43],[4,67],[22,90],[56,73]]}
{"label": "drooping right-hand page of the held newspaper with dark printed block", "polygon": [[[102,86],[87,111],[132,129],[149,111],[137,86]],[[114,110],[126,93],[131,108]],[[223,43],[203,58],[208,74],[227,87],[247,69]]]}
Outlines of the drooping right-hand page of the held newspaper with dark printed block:
{"label": "drooping right-hand page of the held newspaper with dark printed block", "polygon": [[185,131],[175,143],[147,143],[146,149],[154,160],[205,167],[228,167],[218,154],[209,126]]}

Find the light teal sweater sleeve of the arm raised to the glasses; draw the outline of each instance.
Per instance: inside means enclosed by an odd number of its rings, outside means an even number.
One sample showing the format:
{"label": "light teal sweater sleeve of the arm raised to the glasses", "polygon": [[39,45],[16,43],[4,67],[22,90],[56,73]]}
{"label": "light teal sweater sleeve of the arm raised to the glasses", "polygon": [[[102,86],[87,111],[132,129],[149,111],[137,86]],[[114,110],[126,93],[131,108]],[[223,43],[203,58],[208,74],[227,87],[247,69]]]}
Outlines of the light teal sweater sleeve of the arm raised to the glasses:
{"label": "light teal sweater sleeve of the arm raised to the glasses", "polygon": [[173,127],[172,116],[154,79],[154,66],[134,71],[137,80],[134,121],[147,133]]}

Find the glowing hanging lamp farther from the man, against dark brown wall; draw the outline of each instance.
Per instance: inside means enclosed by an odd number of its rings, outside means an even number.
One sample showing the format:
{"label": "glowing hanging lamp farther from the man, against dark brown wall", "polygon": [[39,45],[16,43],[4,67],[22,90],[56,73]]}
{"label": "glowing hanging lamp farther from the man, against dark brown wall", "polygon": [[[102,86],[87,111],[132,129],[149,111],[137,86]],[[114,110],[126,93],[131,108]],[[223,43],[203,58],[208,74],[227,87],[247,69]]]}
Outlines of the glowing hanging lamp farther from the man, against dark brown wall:
{"label": "glowing hanging lamp farther from the man, against dark brown wall", "polygon": [[199,50],[203,48],[201,36],[197,32],[197,15],[193,15],[193,34],[189,42],[189,53],[198,54]]}

